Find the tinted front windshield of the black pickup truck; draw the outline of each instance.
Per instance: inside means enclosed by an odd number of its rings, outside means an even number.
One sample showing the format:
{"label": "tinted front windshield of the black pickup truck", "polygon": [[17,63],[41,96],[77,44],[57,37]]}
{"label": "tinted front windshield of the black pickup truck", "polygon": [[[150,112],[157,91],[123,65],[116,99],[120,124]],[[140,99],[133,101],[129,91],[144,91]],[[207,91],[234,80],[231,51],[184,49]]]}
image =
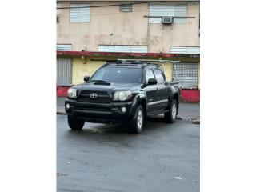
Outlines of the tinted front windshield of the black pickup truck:
{"label": "tinted front windshield of the black pickup truck", "polygon": [[103,67],[94,74],[90,81],[141,83],[142,69],[134,67]]}

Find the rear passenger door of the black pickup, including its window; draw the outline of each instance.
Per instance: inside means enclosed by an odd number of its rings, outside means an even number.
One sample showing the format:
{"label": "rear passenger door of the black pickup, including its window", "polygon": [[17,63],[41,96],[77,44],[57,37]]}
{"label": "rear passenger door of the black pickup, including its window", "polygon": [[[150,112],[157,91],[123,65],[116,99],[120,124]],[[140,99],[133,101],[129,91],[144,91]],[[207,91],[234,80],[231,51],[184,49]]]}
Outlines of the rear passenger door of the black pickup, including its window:
{"label": "rear passenger door of the black pickup, including its window", "polygon": [[154,76],[158,81],[156,94],[158,105],[155,108],[157,110],[164,110],[168,106],[168,85],[166,82],[166,77],[160,69],[154,69]]}

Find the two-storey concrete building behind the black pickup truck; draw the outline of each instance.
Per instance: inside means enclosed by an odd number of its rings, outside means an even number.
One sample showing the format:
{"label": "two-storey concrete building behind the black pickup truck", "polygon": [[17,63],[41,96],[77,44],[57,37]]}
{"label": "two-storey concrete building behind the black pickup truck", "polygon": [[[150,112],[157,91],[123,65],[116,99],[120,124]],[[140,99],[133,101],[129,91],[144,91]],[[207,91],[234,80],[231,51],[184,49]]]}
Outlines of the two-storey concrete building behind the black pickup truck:
{"label": "two-storey concrete building behind the black pickup truck", "polygon": [[182,98],[199,101],[199,1],[57,1],[57,90],[106,61],[162,59]]}

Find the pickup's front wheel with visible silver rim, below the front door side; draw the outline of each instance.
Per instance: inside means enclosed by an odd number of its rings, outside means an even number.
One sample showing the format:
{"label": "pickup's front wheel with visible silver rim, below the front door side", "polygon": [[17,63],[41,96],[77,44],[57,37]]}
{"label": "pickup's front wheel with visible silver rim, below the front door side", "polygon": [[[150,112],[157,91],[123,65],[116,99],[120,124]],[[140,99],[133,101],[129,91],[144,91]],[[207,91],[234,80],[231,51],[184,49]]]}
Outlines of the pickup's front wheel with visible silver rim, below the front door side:
{"label": "pickup's front wheel with visible silver rim, below the front door side", "polygon": [[142,105],[139,105],[135,111],[134,117],[130,120],[130,130],[134,134],[142,133],[145,124],[145,115]]}

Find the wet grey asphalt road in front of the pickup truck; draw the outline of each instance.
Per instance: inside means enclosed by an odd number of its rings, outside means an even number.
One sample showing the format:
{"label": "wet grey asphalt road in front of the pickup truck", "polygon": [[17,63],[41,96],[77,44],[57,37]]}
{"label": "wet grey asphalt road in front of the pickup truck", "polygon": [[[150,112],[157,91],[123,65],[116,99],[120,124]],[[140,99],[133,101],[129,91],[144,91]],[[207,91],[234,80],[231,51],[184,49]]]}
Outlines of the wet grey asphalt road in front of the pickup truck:
{"label": "wet grey asphalt road in front of the pickup truck", "polygon": [[91,123],[75,132],[57,115],[58,191],[199,191],[199,133],[199,125],[162,118],[139,135]]}

